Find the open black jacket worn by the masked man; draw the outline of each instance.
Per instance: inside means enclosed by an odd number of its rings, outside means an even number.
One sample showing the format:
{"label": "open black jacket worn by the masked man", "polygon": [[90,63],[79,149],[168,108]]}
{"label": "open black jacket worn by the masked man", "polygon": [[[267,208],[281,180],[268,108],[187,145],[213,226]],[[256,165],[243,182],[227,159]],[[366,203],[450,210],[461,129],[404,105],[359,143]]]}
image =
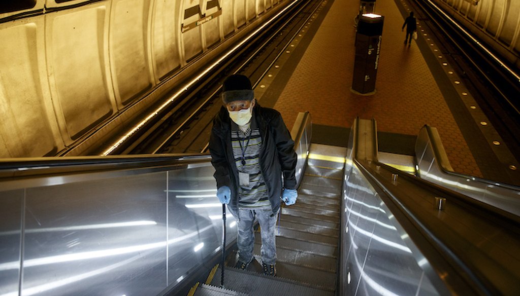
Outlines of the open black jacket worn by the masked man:
{"label": "open black jacket worn by the masked man", "polygon": [[[261,107],[256,103],[253,108],[253,117],[262,137],[260,168],[267,185],[271,209],[273,213],[276,213],[280,209],[283,187],[296,189],[297,156],[294,152],[294,141],[278,111]],[[213,176],[217,181],[217,188],[226,185],[231,189],[231,200],[228,207],[238,212],[238,171],[231,149],[231,119],[225,107],[220,109],[213,120],[209,149],[212,157],[211,163],[215,167]]]}

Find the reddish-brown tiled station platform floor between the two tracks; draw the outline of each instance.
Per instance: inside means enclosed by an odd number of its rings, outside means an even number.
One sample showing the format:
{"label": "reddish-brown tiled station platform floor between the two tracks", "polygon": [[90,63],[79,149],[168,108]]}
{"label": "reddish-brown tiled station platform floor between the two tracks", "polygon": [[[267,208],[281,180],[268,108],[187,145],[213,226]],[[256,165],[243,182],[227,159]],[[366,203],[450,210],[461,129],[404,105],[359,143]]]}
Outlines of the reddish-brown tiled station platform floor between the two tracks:
{"label": "reddish-brown tiled station platform floor between the two tracks", "polygon": [[517,160],[421,16],[415,15],[419,38],[404,44],[407,0],[376,2],[374,13],[384,16],[376,92],[362,96],[350,90],[358,5],[358,0],[324,2],[255,87],[259,103],[280,111],[289,128],[306,111],[313,124],[330,128],[349,128],[356,117],[375,118],[378,131],[401,136],[396,139],[413,138],[427,124],[438,129],[454,171],[520,182]]}

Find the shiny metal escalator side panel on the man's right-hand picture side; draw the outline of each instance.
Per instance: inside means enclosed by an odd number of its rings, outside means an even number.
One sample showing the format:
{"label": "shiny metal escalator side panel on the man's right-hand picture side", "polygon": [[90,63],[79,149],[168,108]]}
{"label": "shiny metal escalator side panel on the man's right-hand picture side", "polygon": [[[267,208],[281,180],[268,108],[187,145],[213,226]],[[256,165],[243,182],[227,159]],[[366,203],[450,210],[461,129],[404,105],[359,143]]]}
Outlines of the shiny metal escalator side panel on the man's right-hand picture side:
{"label": "shiny metal escalator side panel on the man's right-hand picture side", "polygon": [[[354,166],[344,184],[344,294],[438,295],[368,180]],[[348,180],[348,181],[347,181]],[[393,219],[392,219],[393,220]],[[427,260],[424,259],[424,263]]]}

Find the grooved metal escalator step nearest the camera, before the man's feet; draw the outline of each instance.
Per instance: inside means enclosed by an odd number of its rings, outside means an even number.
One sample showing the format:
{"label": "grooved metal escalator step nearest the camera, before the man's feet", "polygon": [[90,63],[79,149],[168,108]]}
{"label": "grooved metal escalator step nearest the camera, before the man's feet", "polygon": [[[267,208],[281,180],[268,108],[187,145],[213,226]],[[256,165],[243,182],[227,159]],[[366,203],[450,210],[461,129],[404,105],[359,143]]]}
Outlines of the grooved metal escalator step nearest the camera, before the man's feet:
{"label": "grooved metal escalator step nearest the camera, before the man's feet", "polygon": [[[281,267],[281,266],[280,266]],[[278,268],[278,273],[284,273],[285,268]],[[212,280],[213,285],[220,284],[220,268],[218,268]],[[224,270],[224,287],[251,296],[287,295],[287,296],[333,296],[334,292],[323,290],[320,285],[308,285],[281,276],[266,276],[249,271],[241,271],[235,268]]]}

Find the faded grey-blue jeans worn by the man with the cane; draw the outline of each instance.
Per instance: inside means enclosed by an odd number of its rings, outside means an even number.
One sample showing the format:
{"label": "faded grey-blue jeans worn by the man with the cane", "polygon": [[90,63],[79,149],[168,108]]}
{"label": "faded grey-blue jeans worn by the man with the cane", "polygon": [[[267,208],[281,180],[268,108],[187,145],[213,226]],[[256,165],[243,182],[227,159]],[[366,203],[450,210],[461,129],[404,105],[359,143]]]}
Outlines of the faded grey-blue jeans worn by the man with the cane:
{"label": "faded grey-blue jeans worn by the man with the cane", "polygon": [[253,248],[255,245],[255,234],[253,224],[255,217],[260,224],[260,234],[262,235],[262,262],[265,264],[275,264],[276,262],[276,219],[277,214],[272,213],[271,209],[239,209],[237,219],[238,224],[238,260],[251,262],[253,260]]}

